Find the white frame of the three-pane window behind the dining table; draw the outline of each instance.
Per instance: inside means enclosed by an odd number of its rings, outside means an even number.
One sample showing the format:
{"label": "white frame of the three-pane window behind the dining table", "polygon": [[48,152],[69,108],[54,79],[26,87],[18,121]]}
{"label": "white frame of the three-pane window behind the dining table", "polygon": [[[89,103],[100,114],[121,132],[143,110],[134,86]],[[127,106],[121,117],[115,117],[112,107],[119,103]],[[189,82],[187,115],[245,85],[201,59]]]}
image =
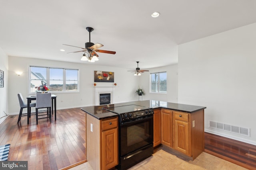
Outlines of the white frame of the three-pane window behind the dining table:
{"label": "white frame of the three-pane window behind the dining table", "polygon": [[[36,92],[31,92],[31,67],[41,67],[41,68],[46,68],[46,84],[50,84],[50,68],[57,68],[57,69],[63,69],[63,90],[62,91],[49,91],[51,93],[79,93],[79,82],[80,82],[80,69],[78,68],[62,68],[62,67],[50,67],[50,66],[36,66],[36,65],[29,65],[28,68],[28,93],[29,94],[35,94]],[[67,91],[66,90],[66,70],[77,70],[78,75],[77,75],[77,91]]]}

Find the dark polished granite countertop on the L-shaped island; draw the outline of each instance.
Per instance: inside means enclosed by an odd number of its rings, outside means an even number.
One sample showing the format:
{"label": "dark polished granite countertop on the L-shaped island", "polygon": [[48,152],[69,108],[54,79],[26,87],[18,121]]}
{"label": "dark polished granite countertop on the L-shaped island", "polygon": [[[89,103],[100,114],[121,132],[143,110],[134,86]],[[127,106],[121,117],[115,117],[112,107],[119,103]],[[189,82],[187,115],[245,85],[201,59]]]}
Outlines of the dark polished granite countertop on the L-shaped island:
{"label": "dark polished granite countertop on the L-shaped island", "polygon": [[101,105],[101,106],[88,106],[88,107],[82,107],[81,109],[83,111],[85,111],[86,113],[92,115],[96,119],[107,119],[110,117],[116,117],[118,115],[115,113],[112,113],[110,111],[104,110],[103,109],[104,107],[125,106],[125,105],[131,105],[131,104],[152,107],[154,109],[156,109],[156,108],[172,109],[172,110],[182,111],[182,112],[186,112],[186,113],[193,113],[195,111],[206,109],[206,107],[203,107],[203,106],[193,106],[193,105],[187,105],[187,104],[161,102],[161,101],[156,101],[156,100],[125,102],[125,103],[109,104],[109,105]]}

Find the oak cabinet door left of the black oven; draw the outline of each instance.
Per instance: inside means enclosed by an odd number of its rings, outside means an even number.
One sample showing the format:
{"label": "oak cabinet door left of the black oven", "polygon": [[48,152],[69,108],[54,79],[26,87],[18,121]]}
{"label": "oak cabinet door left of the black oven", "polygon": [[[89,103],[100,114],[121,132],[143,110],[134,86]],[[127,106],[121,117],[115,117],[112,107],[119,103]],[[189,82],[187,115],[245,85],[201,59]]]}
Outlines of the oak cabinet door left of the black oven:
{"label": "oak cabinet door left of the black oven", "polygon": [[102,170],[108,170],[118,164],[118,129],[102,132]]}

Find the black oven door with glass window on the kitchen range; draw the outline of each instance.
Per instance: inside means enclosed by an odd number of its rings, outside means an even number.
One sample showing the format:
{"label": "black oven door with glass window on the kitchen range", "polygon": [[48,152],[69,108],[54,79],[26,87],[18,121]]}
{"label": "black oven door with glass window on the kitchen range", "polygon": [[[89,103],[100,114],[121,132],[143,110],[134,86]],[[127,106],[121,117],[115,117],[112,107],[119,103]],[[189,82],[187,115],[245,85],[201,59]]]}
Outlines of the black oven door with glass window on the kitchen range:
{"label": "black oven door with glass window on the kitchen range", "polygon": [[153,142],[153,115],[120,123],[120,156]]}

